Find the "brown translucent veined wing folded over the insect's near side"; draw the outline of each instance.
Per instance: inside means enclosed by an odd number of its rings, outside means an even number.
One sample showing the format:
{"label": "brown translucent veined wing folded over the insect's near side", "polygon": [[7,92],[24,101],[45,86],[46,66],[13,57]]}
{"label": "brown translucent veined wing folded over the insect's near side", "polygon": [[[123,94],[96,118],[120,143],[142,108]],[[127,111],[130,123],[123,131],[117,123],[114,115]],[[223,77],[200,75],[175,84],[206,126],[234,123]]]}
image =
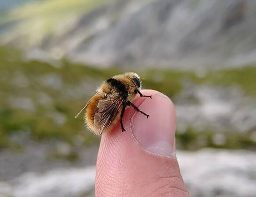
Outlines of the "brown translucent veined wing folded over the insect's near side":
{"label": "brown translucent veined wing folded over the insect's near side", "polygon": [[124,99],[118,93],[99,101],[99,111],[94,115],[94,127],[98,130],[98,135],[108,129],[123,103]]}

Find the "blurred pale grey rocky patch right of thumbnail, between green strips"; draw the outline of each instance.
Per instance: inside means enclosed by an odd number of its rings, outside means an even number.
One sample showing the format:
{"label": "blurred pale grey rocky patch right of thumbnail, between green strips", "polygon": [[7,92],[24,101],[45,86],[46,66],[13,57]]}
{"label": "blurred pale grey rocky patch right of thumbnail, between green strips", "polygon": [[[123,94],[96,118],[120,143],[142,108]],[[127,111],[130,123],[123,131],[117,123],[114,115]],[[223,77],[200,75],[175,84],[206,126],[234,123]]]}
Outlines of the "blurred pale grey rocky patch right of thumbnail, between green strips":
{"label": "blurred pale grey rocky patch right of thumbnail, between green strips", "polygon": [[256,128],[255,99],[235,87],[185,83],[175,98],[179,131],[251,132]]}

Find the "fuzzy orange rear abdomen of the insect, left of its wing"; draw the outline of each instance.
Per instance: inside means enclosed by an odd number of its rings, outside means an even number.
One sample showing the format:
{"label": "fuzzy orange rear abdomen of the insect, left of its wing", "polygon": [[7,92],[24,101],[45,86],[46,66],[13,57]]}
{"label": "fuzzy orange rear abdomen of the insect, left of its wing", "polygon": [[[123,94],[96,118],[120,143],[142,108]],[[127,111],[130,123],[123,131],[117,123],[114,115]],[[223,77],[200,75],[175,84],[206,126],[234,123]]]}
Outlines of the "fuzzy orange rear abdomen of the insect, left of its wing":
{"label": "fuzzy orange rear abdomen of the insect, left of its wing", "polygon": [[92,100],[90,101],[86,113],[85,113],[85,121],[89,129],[95,130],[94,129],[94,115],[98,112],[98,103],[101,99],[104,99],[103,96],[100,95],[95,95],[92,97]]}

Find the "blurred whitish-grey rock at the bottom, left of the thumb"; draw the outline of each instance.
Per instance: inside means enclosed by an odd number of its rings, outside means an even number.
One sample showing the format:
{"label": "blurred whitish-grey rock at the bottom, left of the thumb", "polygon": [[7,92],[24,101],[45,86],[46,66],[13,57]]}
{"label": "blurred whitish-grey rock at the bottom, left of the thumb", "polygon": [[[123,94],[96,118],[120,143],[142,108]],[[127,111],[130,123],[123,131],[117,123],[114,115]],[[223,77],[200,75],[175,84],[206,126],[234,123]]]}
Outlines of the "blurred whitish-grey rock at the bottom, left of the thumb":
{"label": "blurred whitish-grey rock at the bottom, left of the thumb", "polygon": [[28,172],[9,183],[0,182],[0,195],[2,197],[79,197],[93,191],[94,181],[95,167],[53,169],[44,174]]}

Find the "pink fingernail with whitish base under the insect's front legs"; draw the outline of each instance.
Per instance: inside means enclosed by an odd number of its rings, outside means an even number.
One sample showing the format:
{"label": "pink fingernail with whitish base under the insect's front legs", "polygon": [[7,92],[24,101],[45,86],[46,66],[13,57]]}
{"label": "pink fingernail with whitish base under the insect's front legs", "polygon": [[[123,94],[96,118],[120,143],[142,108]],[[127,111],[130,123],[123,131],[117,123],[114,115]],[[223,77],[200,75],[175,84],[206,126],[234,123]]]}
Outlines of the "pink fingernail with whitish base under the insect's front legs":
{"label": "pink fingernail with whitish base under the insect's front legs", "polygon": [[138,107],[149,118],[139,112],[133,114],[131,129],[135,140],[149,153],[176,158],[176,114],[172,101],[159,93]]}

